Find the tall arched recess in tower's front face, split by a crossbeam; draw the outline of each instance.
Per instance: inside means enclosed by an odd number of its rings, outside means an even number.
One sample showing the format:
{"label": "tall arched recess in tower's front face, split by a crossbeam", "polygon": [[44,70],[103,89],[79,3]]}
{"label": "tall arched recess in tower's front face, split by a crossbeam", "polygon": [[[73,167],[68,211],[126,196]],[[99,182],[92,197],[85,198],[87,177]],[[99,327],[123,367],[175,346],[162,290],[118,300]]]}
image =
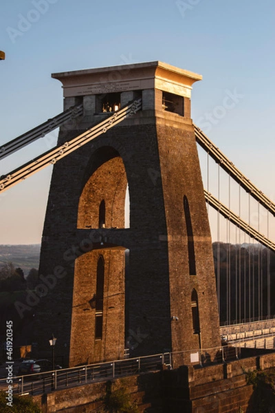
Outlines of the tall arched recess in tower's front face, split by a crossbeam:
{"label": "tall arched recess in tower's front face, split by a crossbeam", "polygon": [[[124,229],[126,171],[111,147],[96,150],[78,203],[78,229]],[[121,359],[125,348],[125,251],[100,236],[74,268],[70,363]],[[115,332],[115,334],[114,334]],[[85,350],[78,343],[85,340]],[[86,352],[85,356],[83,352]],[[83,359],[84,357],[84,359]]]}

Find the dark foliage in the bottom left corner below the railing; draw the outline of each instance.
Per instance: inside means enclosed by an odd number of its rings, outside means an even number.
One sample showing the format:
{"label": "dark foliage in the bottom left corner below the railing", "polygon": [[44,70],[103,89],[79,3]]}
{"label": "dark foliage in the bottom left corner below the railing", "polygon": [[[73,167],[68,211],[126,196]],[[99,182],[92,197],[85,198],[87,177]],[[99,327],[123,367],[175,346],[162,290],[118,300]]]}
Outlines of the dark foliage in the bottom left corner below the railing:
{"label": "dark foliage in the bottom left corner below the railing", "polygon": [[30,396],[12,396],[12,407],[7,405],[7,394],[0,391],[0,412],[1,413],[41,413],[41,409]]}

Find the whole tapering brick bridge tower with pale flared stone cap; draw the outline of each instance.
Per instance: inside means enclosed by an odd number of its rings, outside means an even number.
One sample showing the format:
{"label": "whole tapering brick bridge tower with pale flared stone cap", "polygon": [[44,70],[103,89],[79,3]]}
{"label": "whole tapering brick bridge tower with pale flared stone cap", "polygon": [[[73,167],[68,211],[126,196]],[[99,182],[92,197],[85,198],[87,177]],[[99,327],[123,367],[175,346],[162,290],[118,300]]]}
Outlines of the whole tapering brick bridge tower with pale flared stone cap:
{"label": "whole tapering brick bridge tower with pale flared stone cap", "polygon": [[[192,83],[161,63],[53,74],[64,107],[84,115],[58,144],[135,98],[142,111],[54,165],[36,326],[70,366],[220,346],[212,244],[195,134]],[[51,284],[52,283],[52,284]],[[48,346],[48,344],[47,344]],[[178,363],[190,363],[185,353]]]}

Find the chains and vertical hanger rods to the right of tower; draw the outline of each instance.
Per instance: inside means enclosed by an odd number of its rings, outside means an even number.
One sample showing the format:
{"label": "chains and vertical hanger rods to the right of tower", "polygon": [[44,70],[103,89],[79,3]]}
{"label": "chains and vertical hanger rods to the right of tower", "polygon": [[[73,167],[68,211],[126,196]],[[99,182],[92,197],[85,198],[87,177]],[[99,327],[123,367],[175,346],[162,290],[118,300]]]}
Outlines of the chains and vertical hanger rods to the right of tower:
{"label": "chains and vertical hanger rods to the right of tower", "polygon": [[[272,319],[274,203],[197,127],[195,134],[204,150],[201,158],[206,157],[204,184],[212,236],[217,240],[213,252],[221,324],[252,326],[253,321]],[[216,167],[214,182],[209,178],[209,158]]]}

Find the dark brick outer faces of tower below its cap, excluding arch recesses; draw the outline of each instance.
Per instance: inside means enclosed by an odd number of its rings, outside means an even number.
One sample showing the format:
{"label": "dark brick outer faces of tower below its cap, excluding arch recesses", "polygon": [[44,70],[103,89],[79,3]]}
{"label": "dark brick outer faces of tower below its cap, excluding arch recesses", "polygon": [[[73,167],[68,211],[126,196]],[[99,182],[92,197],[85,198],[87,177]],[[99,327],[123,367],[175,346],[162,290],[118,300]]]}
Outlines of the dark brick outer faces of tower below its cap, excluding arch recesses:
{"label": "dark brick outer faces of tower below its cap, excluding arch recesses", "polygon": [[[78,133],[80,130],[62,131],[59,140],[65,142]],[[101,165],[118,156],[123,161],[129,184],[130,228],[78,228],[79,200],[85,184]],[[108,185],[106,188],[112,190]],[[196,275],[189,273],[184,195],[190,205]],[[104,240],[103,247],[100,240]],[[78,342],[78,331],[83,330],[87,334],[80,358],[85,359],[87,351],[93,353],[90,347],[93,328],[89,324],[88,332],[85,326],[88,310],[87,315],[77,316],[83,326],[71,328],[76,273],[79,277],[87,273],[85,266],[89,260],[84,257],[89,251],[116,247],[129,250],[124,286],[125,332],[128,335],[131,331],[132,337],[137,337],[132,341],[131,355],[219,346],[210,231],[190,119],[169,112],[144,110],[54,166],[40,272],[51,274],[59,266],[64,276],[39,302],[34,332],[39,349],[48,347],[48,337],[54,332],[58,339],[56,352],[62,352],[68,359],[69,347]],[[76,260],[79,260],[77,264]],[[91,293],[93,288],[91,286]],[[193,334],[192,325],[194,288],[198,294],[199,337]],[[120,293],[123,294],[123,288]],[[120,335],[119,331],[114,324],[114,335]],[[98,354],[100,352],[98,350]],[[109,357],[112,354],[113,350]],[[79,361],[79,354],[74,356],[71,350],[71,365],[75,357]]]}

